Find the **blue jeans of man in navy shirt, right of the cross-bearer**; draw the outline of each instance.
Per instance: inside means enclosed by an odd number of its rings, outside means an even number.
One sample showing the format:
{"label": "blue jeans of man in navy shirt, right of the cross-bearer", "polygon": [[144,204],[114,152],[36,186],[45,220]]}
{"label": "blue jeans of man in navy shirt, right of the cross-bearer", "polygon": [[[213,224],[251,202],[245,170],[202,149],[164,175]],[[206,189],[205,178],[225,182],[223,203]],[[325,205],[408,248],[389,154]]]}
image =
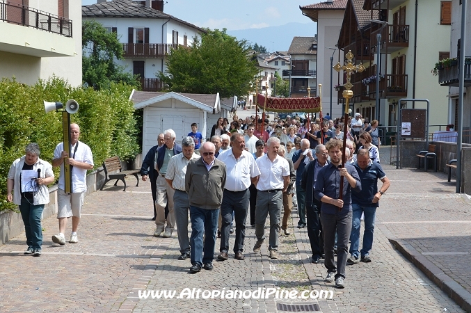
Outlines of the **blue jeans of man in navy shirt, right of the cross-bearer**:
{"label": "blue jeans of man in navy shirt, right of the cross-bearer", "polygon": [[[353,220],[351,223],[350,234],[350,254],[354,257],[365,257],[369,255],[373,246],[373,232],[374,232],[374,219],[376,217],[376,207],[362,207],[358,204],[352,204]],[[362,213],[365,212],[365,230],[363,231],[363,246],[360,248],[360,218]]]}

